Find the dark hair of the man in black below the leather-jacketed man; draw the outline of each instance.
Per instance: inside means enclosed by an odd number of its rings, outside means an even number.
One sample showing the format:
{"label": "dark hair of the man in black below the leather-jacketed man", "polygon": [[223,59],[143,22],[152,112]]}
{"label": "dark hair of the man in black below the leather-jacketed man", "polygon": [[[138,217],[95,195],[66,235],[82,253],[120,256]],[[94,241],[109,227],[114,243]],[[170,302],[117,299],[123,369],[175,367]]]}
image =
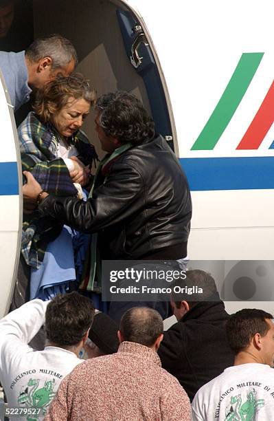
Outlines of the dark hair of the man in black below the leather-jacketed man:
{"label": "dark hair of the man in black below the leather-jacketed man", "polygon": [[[216,283],[212,278],[212,275],[205,272],[204,270],[194,269],[187,270],[185,272],[186,278],[179,278],[173,281],[170,285],[172,289],[171,297],[177,308],[181,306],[181,301],[187,301],[190,307],[193,307],[201,301],[218,301],[220,297],[216,288]],[[191,288],[197,286],[203,289],[203,294],[192,294],[189,295],[184,292],[174,292],[174,287],[179,286],[180,288]]]}

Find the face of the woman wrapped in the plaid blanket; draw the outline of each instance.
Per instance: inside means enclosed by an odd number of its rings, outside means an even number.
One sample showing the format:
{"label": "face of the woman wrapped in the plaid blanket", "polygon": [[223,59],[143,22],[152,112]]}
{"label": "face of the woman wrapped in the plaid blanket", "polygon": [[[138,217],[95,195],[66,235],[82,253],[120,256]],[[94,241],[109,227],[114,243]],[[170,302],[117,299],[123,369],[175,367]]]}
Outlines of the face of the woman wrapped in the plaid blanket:
{"label": "face of the woman wrapped in the plaid blanket", "polygon": [[72,136],[83,124],[91,105],[83,98],[69,98],[67,104],[52,116],[52,124],[57,131],[67,138]]}

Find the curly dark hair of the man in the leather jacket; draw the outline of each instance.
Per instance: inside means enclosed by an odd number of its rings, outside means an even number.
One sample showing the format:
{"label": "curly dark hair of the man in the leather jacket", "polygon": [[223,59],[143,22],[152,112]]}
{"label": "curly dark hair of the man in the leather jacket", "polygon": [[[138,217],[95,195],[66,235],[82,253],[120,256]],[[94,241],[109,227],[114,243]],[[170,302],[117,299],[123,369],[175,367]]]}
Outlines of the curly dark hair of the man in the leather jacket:
{"label": "curly dark hair of the man in the leather jacket", "polygon": [[106,136],[141,144],[155,136],[155,124],[136,96],[116,91],[98,98],[95,109],[100,112],[98,124]]}

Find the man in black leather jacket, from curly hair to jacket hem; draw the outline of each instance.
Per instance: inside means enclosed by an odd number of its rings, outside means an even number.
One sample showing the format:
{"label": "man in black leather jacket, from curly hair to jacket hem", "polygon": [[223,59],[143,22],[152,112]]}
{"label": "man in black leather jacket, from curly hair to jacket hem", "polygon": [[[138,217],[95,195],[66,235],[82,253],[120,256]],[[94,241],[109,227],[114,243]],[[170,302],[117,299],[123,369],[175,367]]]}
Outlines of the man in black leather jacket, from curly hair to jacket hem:
{"label": "man in black leather jacket, from curly hair to jacket hem", "polygon": [[87,202],[41,193],[25,173],[25,199],[84,233],[98,233],[102,259],[181,259],[187,255],[192,202],[179,161],[135,96],[99,98],[96,130],[108,154]]}

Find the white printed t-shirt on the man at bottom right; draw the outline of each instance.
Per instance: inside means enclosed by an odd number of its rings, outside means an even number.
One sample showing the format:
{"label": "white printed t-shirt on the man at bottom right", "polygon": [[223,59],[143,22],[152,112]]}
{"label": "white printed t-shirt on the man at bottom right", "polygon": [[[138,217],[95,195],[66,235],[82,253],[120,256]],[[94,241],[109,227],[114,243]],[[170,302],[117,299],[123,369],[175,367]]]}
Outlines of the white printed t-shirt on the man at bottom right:
{"label": "white printed t-shirt on the man at bottom right", "polygon": [[225,369],[196,393],[192,420],[274,420],[274,369],[255,363]]}

